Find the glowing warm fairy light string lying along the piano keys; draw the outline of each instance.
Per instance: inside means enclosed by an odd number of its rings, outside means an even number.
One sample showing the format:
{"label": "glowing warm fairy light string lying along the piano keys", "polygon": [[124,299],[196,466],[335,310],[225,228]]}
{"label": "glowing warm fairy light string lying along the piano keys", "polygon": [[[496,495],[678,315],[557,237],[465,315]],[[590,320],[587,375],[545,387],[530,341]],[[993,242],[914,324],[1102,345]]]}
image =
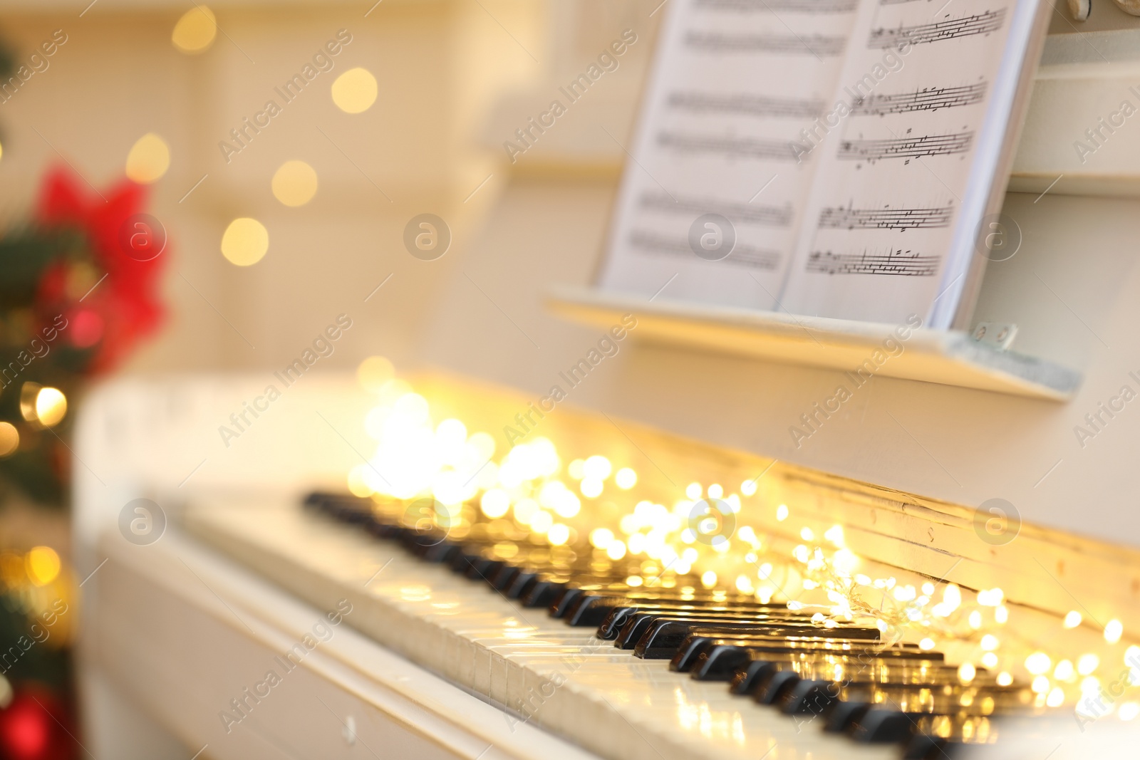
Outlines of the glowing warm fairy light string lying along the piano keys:
{"label": "glowing warm fairy light string lying along the piano keys", "polygon": [[[601,455],[564,463],[554,442],[540,436],[499,453],[491,435],[469,432],[459,419],[433,422],[427,400],[396,378],[386,359],[366,360],[358,375],[377,403],[365,419],[376,441],[375,455],[348,474],[349,490],[357,496],[430,497],[433,523],[441,530],[463,530],[478,505],[477,518],[524,531],[532,541],[537,537],[551,546],[592,550],[613,562],[642,558],[641,572],[626,579],[630,586],[675,588],[699,578],[705,589],[725,595],[787,602],[792,610],[811,612],[824,627],[872,622],[887,641],[917,640],[928,651],[953,641],[964,645],[958,651],[972,653],[959,664],[962,683],[985,668],[996,671],[1000,685],[1012,684],[1015,676],[1028,681],[1039,706],[1072,705],[1090,718],[1109,712],[1124,720],[1140,716],[1140,647],[1122,641],[1118,620],[1100,631],[1100,654],[1050,654],[1008,626],[1013,612],[1000,588],[972,591],[931,581],[915,586],[860,572],[870,563],[847,548],[841,525],[820,537],[803,526],[800,544],[790,551],[775,550],[774,542],[790,544],[773,541],[775,536],[797,534],[793,507],[764,505],[756,498],[747,514],[755,515],[757,524],[738,525],[744,499],[757,495],[755,480],[733,492],[717,483],[690,483],[684,498],[671,505],[638,500],[632,467],[616,467]],[[598,521],[603,504],[616,502],[628,507]],[[771,522],[764,518],[766,512]],[[766,532],[763,523],[773,530]],[[1061,630],[1081,626],[1090,622],[1076,611],[1059,623]],[[1123,668],[1119,677],[1109,668],[1110,660]],[[1114,679],[1107,702],[1102,677]]]}

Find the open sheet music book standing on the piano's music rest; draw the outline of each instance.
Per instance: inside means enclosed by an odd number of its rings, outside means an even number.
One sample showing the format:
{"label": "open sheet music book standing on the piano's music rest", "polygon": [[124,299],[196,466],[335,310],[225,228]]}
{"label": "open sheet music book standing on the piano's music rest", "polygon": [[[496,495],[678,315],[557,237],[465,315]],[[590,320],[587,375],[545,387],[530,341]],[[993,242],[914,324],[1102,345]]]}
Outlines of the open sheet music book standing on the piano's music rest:
{"label": "open sheet music book standing on the piano's music rest", "polygon": [[600,285],[962,327],[1042,0],[674,0]]}

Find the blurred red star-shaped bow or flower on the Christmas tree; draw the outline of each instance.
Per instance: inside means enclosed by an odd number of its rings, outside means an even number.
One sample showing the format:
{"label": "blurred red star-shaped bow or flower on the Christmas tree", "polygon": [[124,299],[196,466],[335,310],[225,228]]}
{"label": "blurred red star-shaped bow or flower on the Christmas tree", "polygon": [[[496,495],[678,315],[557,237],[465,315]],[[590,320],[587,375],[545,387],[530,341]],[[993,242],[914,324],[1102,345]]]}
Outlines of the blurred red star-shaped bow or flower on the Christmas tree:
{"label": "blurred red star-shaped bow or flower on the Christmas tree", "polygon": [[[117,365],[164,316],[157,284],[169,255],[164,252],[165,230],[158,220],[142,214],[145,201],[146,189],[129,180],[100,197],[63,167],[49,172],[43,182],[39,223],[78,227],[87,235],[98,276],[106,273],[106,279],[85,295],[67,294],[70,262],[60,261],[47,269],[39,287],[40,312],[47,321],[62,311],[68,321],[64,333],[76,330],[65,335],[68,343],[83,348],[98,342],[92,373]],[[140,219],[146,221],[145,232],[138,227]],[[153,258],[141,255],[140,250]],[[80,297],[82,304],[78,303]]]}

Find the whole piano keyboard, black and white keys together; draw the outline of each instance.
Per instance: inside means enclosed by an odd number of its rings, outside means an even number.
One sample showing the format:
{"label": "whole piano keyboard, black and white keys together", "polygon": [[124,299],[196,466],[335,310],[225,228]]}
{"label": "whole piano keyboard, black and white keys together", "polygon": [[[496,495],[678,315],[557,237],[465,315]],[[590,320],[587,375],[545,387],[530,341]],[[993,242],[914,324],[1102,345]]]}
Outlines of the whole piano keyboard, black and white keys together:
{"label": "whole piano keyboard, black and white keys together", "polygon": [[1042,713],[1027,685],[877,628],[684,577],[635,586],[622,562],[416,530],[369,499],[307,506],[187,522],[314,604],[360,602],[353,626],[504,708],[508,726],[534,721],[602,757],[953,758]]}

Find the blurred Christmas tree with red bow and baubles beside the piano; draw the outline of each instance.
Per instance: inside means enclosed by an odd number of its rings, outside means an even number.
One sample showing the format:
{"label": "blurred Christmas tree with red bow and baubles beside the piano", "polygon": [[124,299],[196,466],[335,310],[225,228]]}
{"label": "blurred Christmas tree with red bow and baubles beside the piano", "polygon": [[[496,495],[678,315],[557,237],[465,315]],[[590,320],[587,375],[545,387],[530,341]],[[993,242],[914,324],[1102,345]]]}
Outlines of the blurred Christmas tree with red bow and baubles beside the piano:
{"label": "blurred Christmas tree with red bow and baubles beside the piano", "polygon": [[[0,46],[0,81],[14,74],[13,60]],[[142,213],[145,199],[133,182],[99,191],[56,169],[31,218],[0,231],[0,760],[80,752],[70,654],[76,580],[66,534],[57,530],[57,551],[34,546],[47,542],[36,529],[11,524],[34,524],[27,515],[51,524],[55,515],[64,528],[68,407],[162,319],[156,291],[166,239]]]}

